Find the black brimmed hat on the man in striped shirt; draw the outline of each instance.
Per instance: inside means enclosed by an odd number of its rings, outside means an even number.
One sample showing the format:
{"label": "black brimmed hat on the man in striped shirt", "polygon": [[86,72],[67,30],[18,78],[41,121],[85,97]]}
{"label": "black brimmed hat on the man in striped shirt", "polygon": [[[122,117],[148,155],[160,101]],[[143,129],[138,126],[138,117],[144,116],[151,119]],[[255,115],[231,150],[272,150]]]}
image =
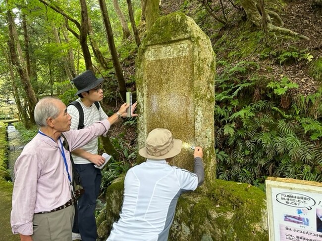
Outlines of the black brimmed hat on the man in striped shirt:
{"label": "black brimmed hat on the man in striped shirt", "polygon": [[100,83],[103,82],[103,78],[97,79],[91,70],[87,70],[79,76],[75,77],[71,81],[75,84],[78,89],[75,95],[89,91],[90,89],[95,88]]}

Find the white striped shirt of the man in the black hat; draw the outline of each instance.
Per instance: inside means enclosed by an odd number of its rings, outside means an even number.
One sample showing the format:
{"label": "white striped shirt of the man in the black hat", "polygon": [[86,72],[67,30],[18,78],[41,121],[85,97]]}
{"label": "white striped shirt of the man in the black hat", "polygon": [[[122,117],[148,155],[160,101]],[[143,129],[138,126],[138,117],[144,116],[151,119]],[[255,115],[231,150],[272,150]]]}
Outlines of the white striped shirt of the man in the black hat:
{"label": "white striped shirt of the man in the black hat", "polygon": [[[95,104],[91,105],[90,107],[86,107],[81,101],[81,98],[78,98],[76,101],[79,102],[81,104],[81,107],[83,108],[85,127],[92,125],[95,121],[102,121],[108,118],[107,114],[105,114],[105,112],[103,111],[101,105],[98,110]],[[78,122],[79,122],[79,112],[77,108],[73,105],[69,105],[67,107],[67,112],[72,118],[70,128],[77,129]],[[97,149],[98,149],[98,138],[94,138],[93,140],[91,140],[89,143],[87,143],[85,146],[82,147],[82,150],[92,154],[97,154]],[[92,163],[87,159],[83,159],[75,155],[72,155],[72,157],[75,164]]]}

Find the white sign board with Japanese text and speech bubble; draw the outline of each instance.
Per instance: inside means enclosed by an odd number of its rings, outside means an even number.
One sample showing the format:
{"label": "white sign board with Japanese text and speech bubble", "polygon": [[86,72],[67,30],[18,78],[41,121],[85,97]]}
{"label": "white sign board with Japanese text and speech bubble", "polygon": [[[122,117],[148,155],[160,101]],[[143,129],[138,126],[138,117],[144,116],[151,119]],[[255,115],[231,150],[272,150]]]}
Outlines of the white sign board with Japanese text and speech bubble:
{"label": "white sign board with Japanese text and speech bubble", "polygon": [[322,184],[266,180],[269,241],[322,241]]}

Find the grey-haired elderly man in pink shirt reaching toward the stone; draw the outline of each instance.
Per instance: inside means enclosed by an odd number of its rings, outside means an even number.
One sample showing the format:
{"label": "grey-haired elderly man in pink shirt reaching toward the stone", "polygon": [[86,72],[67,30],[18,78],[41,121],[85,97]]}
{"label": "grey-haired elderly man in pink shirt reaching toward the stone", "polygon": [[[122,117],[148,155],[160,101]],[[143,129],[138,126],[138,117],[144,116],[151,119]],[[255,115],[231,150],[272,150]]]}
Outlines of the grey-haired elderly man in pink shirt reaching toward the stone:
{"label": "grey-haired elderly man in pink shirt reaching toward the stone", "polygon": [[[124,114],[128,107],[123,104],[118,113]],[[21,241],[71,241],[75,212],[72,166],[61,133],[72,151],[94,137],[106,135],[118,115],[81,130],[70,130],[71,117],[64,103],[47,97],[37,103],[34,117],[39,132],[25,146],[14,167],[12,232],[20,234]]]}

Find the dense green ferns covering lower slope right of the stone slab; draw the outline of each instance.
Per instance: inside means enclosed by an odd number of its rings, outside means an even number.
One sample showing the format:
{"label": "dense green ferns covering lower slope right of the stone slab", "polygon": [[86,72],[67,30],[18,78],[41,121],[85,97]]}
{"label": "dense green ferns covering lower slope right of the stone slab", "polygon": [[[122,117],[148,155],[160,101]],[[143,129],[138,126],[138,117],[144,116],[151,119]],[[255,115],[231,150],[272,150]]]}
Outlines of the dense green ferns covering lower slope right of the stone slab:
{"label": "dense green ferns covering lower slope right of the stone slab", "polygon": [[255,62],[231,66],[216,77],[215,128],[217,175],[220,179],[263,183],[266,176],[321,180],[321,90],[283,95],[297,84],[283,77],[266,79]]}

